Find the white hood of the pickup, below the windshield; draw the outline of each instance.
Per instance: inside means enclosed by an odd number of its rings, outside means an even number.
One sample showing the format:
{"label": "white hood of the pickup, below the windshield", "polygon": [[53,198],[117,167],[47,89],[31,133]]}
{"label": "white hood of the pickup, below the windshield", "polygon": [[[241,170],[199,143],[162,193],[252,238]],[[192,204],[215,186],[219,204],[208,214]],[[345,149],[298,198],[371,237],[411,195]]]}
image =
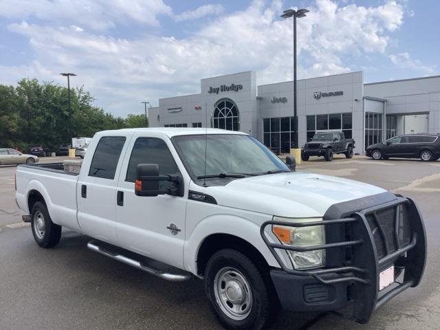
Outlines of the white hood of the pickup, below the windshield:
{"label": "white hood of the pickup, below the windshield", "polygon": [[205,192],[221,206],[295,218],[322,217],[335,203],[386,190],[340,177],[294,172],[236,179]]}

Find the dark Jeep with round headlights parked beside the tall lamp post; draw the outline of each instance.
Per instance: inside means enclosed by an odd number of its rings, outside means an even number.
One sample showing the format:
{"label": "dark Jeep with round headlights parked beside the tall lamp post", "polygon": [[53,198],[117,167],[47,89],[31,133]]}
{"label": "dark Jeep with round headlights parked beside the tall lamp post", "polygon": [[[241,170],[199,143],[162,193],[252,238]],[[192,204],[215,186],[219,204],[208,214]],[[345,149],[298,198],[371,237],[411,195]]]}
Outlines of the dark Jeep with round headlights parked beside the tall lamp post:
{"label": "dark Jeep with round headlights parked beside the tall lamp post", "polygon": [[301,159],[309,160],[310,156],[324,156],[327,162],[333,159],[336,153],[343,153],[345,157],[353,157],[355,140],[346,139],[342,132],[316,133],[301,149]]}

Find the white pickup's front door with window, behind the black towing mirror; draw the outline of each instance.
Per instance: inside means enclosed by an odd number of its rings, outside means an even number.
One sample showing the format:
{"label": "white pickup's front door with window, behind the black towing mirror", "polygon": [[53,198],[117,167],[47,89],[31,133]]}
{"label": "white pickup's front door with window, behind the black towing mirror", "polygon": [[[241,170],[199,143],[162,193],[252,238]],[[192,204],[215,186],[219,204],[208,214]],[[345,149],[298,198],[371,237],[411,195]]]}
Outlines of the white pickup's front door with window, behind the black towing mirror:
{"label": "white pickup's front door with window, behind the black towing mirror", "polygon": [[[160,175],[182,173],[179,170],[182,164],[176,164],[175,159],[179,158],[170,141],[164,140],[162,135],[145,137],[137,133],[129,150],[131,155],[124,159],[118,182],[116,228],[120,246],[183,268],[187,199],[171,195],[136,196],[134,184],[137,164],[158,164]],[[160,182],[161,189],[171,185],[169,181]]]}

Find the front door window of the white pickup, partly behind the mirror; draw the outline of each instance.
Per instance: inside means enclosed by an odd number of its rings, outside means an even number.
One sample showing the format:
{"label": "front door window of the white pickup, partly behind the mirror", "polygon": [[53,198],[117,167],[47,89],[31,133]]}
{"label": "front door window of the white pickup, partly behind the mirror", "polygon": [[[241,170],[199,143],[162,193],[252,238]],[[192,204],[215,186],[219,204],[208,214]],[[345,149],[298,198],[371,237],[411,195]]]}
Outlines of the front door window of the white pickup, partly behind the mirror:
{"label": "front door window of the white pickup, partly behind the mirror", "polygon": [[[164,140],[155,137],[139,137],[136,140],[131,152],[125,181],[134,182],[136,180],[137,164],[157,164],[160,175],[179,173],[179,168],[177,168],[170,149]],[[160,188],[170,186],[172,186],[172,182],[160,181]]]}

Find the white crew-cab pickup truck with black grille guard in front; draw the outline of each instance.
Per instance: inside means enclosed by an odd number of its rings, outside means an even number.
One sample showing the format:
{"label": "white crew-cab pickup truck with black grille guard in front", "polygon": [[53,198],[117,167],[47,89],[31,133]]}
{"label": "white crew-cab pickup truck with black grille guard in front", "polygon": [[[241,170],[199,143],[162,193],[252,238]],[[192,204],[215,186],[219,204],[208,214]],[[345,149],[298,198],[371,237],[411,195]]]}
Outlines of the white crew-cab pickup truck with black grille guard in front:
{"label": "white crew-cab pickup truck with black grille guard in front", "polygon": [[203,278],[228,329],[262,329],[282,308],[368,322],[421,281],[421,214],[382,188],[295,172],[293,160],[239,132],[102,131],[80,173],[18,166],[17,204],[42,248],[65,227],[149,274]]}

